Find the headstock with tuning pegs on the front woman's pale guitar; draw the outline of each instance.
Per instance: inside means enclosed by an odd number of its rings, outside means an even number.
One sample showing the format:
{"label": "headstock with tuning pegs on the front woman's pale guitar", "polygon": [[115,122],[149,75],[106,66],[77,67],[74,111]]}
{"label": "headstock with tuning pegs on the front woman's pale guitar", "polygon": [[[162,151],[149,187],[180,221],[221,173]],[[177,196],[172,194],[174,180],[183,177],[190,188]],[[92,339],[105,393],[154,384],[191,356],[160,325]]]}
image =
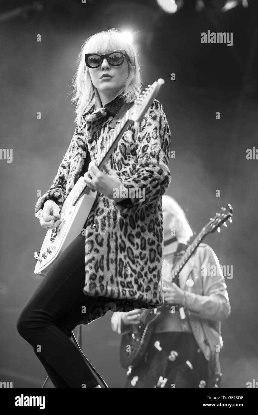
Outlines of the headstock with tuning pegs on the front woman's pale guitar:
{"label": "headstock with tuning pegs on the front woman's pale guitar", "polygon": [[134,105],[127,111],[127,119],[131,122],[140,122],[152,101],[158,95],[158,91],[165,83],[164,79],[159,78],[158,81],[153,82],[141,93],[139,98],[135,100]]}

